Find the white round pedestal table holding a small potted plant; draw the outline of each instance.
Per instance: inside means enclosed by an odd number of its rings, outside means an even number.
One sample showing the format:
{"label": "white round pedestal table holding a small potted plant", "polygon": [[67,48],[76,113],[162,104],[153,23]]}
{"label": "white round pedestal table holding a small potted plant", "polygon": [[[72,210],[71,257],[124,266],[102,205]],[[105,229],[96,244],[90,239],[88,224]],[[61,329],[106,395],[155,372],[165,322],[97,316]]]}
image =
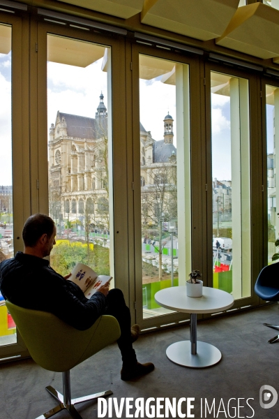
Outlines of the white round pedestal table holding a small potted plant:
{"label": "white round pedestal table holding a small potted plant", "polygon": [[234,297],[216,288],[203,287],[202,297],[188,297],[186,286],[165,288],[155,294],[155,301],[166,309],[190,313],[190,341],[179,341],[167,348],[167,358],[183,367],[203,368],[217,364],[222,358],[219,349],[197,341],[197,314],[217,313],[229,309]]}

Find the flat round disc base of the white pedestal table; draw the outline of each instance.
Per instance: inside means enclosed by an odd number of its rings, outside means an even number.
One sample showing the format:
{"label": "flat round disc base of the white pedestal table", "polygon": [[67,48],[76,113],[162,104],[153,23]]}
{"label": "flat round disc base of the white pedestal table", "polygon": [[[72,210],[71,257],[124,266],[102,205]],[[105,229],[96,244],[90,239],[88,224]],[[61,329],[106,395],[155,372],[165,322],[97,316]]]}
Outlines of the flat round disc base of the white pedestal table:
{"label": "flat round disc base of the white pedestal table", "polygon": [[191,342],[180,341],[167,348],[167,358],[174,364],[190,368],[204,368],[217,364],[222,358],[219,349],[206,342],[197,341],[197,353],[191,354]]}

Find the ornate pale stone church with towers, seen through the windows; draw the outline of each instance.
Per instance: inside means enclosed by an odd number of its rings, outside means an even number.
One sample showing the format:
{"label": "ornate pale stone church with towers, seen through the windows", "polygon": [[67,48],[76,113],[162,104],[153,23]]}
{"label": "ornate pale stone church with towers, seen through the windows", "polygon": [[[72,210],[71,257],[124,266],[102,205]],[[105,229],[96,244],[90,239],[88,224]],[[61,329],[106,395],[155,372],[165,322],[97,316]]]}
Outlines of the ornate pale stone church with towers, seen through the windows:
{"label": "ornate pale stone church with towers, seen through the windows", "polygon": [[[173,119],[164,119],[164,139],[156,141],[140,124],[142,196],[176,170]],[[107,108],[100,94],[95,118],[57,112],[49,139],[50,214],[55,221],[85,220],[109,228]],[[158,183],[159,184],[159,183]]]}

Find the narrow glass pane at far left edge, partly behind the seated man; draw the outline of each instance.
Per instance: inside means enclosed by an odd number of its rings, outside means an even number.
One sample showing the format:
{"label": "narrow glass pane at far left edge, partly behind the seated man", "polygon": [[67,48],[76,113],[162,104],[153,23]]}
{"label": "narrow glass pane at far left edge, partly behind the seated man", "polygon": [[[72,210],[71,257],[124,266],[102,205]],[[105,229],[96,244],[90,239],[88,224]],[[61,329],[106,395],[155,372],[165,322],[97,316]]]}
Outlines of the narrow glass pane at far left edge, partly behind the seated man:
{"label": "narrow glass pane at far left edge, partly behind the seated man", "polygon": [[[0,24],[0,262],[13,257],[12,29]],[[15,323],[0,293],[0,345],[15,343]]]}

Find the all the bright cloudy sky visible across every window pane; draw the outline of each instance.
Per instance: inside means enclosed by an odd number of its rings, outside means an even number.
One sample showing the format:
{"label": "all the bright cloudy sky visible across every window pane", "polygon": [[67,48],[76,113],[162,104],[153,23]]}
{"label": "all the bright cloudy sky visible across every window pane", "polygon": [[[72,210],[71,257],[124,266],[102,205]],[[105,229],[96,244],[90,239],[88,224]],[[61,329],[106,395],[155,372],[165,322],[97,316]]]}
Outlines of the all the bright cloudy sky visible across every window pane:
{"label": "all the bright cloudy sky visible across every window pane", "polygon": [[[107,106],[107,73],[103,59],[81,68],[47,63],[47,124],[55,122],[56,112],[95,117],[100,92]],[[176,145],[175,86],[153,80],[140,80],[140,122],[155,140],[162,140],[163,119],[169,112],[174,119]],[[11,174],[11,54],[0,54],[0,185],[12,184]],[[229,97],[211,94],[212,177],[231,179]],[[273,106],[267,105],[268,152],[273,152]]]}

